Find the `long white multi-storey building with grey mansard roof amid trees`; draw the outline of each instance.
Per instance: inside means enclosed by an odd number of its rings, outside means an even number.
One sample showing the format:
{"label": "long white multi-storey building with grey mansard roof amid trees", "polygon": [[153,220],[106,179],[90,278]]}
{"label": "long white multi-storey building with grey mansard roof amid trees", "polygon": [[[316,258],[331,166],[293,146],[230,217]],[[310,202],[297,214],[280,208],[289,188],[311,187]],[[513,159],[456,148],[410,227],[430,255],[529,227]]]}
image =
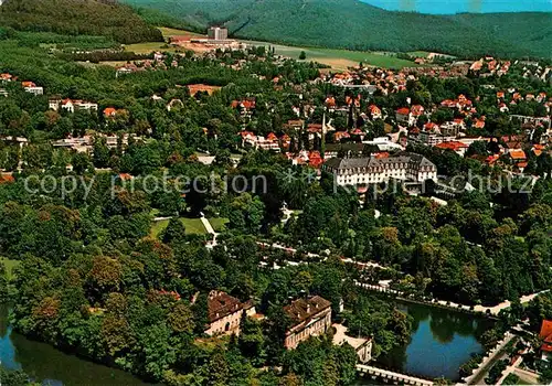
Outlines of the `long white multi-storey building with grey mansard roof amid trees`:
{"label": "long white multi-storey building with grey mansard roof amid trees", "polygon": [[391,179],[423,182],[437,180],[437,168],[425,157],[405,153],[389,158],[332,158],[323,164],[338,185],[365,185]]}

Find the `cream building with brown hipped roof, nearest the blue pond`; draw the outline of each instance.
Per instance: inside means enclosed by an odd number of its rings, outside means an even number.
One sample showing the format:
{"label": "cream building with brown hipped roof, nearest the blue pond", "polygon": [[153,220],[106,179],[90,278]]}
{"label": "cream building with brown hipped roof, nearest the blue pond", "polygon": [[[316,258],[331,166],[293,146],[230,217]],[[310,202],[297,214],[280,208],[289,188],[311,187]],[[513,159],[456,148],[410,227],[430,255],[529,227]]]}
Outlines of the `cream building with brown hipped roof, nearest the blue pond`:
{"label": "cream building with brown hipped roof, nearest the blue pond", "polygon": [[284,312],[294,323],[286,331],[284,342],[289,350],[310,336],[325,334],[331,326],[331,303],[319,296],[297,299],[284,307]]}

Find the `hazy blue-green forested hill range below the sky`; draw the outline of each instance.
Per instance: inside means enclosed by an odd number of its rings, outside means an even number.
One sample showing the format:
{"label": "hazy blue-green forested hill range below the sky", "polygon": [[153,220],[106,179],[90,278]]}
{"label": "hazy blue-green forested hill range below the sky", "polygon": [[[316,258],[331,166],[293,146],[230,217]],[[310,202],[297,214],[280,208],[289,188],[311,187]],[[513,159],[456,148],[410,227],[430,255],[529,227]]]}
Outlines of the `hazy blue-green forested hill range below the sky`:
{"label": "hazy blue-green forested hill range below the sky", "polygon": [[428,15],[358,0],[124,0],[235,36],[355,50],[551,57],[552,13]]}

